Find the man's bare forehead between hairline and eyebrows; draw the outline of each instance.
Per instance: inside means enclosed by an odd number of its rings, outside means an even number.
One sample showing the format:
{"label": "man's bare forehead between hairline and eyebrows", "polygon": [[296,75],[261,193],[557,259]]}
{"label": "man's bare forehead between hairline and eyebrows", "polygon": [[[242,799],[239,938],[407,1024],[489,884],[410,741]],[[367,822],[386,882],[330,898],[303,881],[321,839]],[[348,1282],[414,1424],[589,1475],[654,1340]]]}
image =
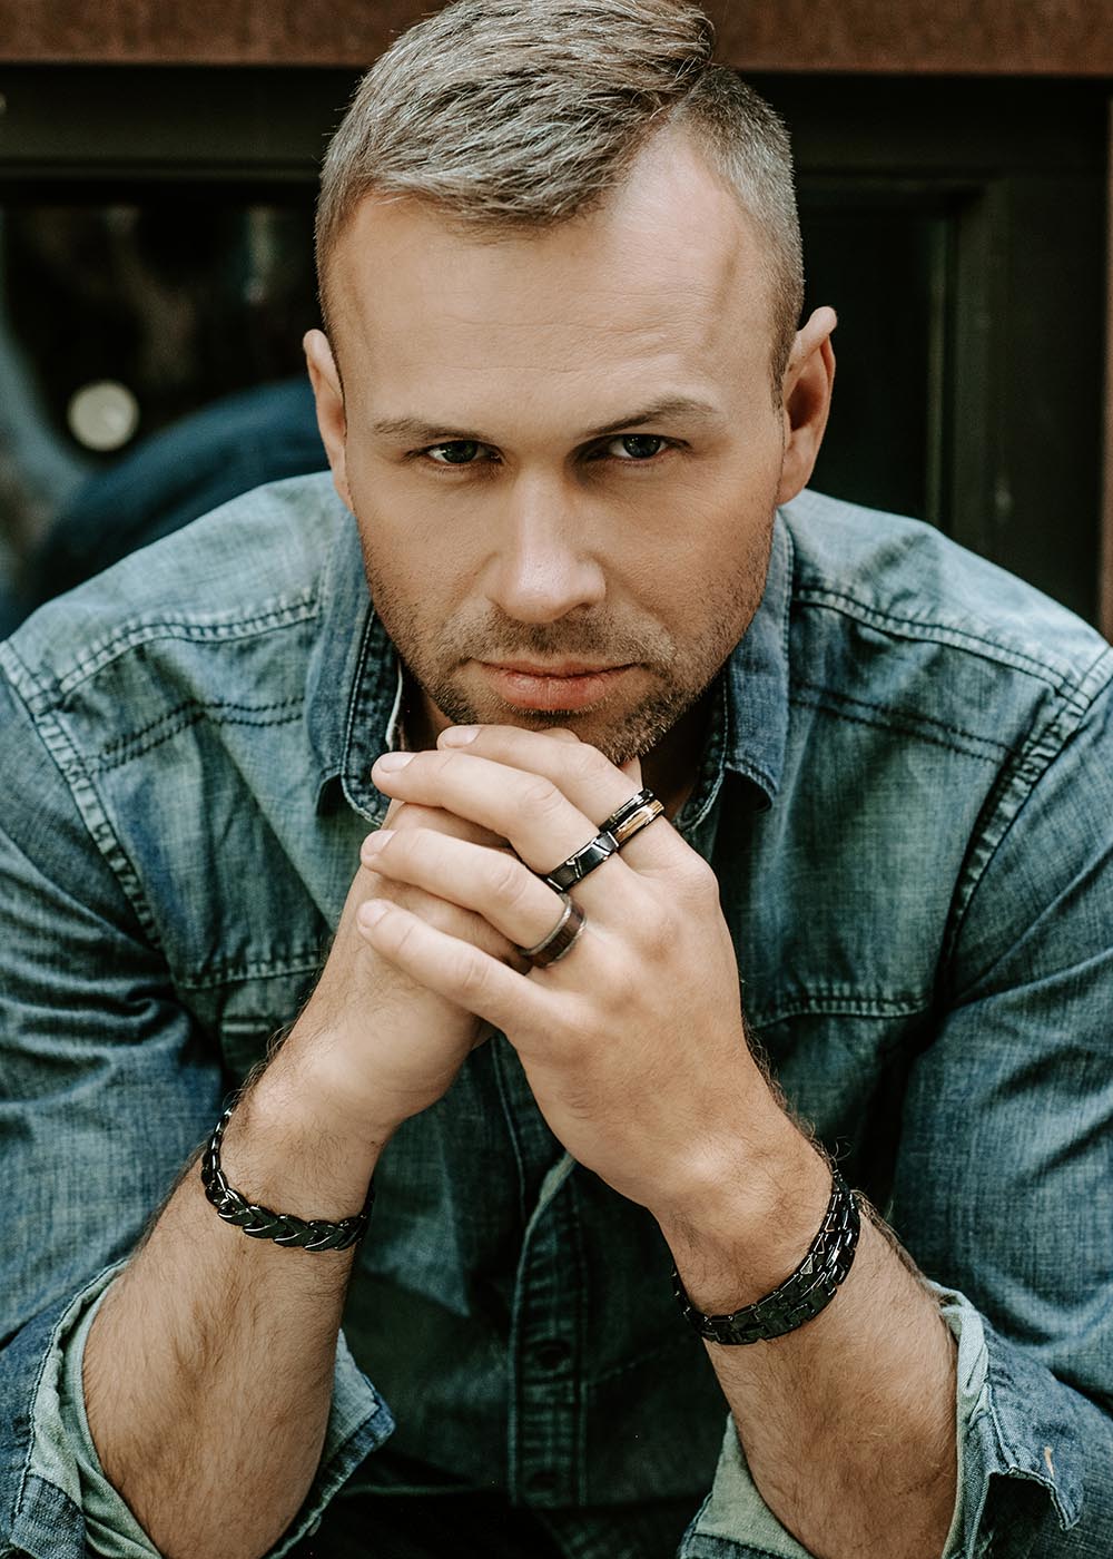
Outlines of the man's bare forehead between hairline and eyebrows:
{"label": "man's bare forehead between hairline and eyebrows", "polygon": [[574,346],[600,332],[768,324],[756,228],[677,137],[656,137],[602,207],[544,229],[483,232],[427,203],[371,193],[330,268],[338,327],[368,345],[426,324],[447,352],[454,340],[469,351],[471,329],[504,346],[549,329]]}

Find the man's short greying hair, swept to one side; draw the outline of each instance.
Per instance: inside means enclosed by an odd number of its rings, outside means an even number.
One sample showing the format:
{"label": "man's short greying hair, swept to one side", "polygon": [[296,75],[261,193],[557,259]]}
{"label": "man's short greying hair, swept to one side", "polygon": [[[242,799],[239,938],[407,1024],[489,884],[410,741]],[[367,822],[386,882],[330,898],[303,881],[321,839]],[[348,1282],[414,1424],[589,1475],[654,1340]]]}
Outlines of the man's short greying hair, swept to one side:
{"label": "man's short greying hair, swept to one side", "polygon": [[789,136],[712,64],[714,27],[684,0],[455,0],[391,44],[329,145],[316,273],[368,193],[413,196],[504,237],[603,204],[650,136],[683,126],[764,239],[773,388],[803,307]]}

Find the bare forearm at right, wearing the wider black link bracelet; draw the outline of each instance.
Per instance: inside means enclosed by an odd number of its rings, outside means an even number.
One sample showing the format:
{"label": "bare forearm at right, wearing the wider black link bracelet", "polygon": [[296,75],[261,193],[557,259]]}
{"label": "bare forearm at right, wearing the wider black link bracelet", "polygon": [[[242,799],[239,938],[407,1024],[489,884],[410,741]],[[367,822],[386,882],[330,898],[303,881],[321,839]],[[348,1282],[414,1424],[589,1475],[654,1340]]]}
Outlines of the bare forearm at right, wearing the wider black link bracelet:
{"label": "bare forearm at right, wearing the wider black link bracelet", "polygon": [[[662,1221],[705,1313],[776,1288],[820,1225],[829,1172],[786,1127],[762,1172],[720,1177],[742,1196],[709,1193],[703,1219]],[[867,1216],[850,1275],[820,1316],[768,1342],[706,1347],[753,1481],[809,1553],[940,1559],[957,1481],[954,1341]]]}

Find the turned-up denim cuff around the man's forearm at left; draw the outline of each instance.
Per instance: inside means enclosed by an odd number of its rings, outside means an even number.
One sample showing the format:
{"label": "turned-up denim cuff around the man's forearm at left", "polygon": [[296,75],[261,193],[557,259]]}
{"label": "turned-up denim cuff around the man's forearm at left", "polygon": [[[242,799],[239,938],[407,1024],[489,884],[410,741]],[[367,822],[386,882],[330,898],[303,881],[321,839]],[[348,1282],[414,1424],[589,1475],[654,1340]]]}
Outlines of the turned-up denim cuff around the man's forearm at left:
{"label": "turned-up denim cuff around the man's forearm at left", "polygon": [[[122,1266],[109,1267],[83,1289],[51,1336],[31,1412],[28,1473],[59,1489],[81,1509],[92,1553],[103,1559],[161,1559],[159,1550],[104,1476],[89,1433],[81,1383],[86,1339]],[[298,1515],[267,1559],[282,1559],[296,1542],[316,1529],[337,1489],[393,1428],[390,1409],[357,1367],[341,1333],[321,1462]]]}

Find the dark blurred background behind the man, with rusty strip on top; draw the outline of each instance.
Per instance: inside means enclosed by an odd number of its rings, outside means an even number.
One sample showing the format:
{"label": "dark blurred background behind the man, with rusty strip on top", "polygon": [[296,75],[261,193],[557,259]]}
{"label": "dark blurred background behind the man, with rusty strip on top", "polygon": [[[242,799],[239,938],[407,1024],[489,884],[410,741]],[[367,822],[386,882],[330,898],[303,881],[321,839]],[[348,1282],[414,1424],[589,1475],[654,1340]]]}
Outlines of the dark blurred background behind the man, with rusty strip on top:
{"label": "dark blurred background behind the man, with rusty strip on top", "polygon": [[[256,482],[324,465],[312,212],[408,0],[0,0],[0,635]],[[1113,631],[1113,0],[711,0],[787,120],[814,485],[915,514]]]}

